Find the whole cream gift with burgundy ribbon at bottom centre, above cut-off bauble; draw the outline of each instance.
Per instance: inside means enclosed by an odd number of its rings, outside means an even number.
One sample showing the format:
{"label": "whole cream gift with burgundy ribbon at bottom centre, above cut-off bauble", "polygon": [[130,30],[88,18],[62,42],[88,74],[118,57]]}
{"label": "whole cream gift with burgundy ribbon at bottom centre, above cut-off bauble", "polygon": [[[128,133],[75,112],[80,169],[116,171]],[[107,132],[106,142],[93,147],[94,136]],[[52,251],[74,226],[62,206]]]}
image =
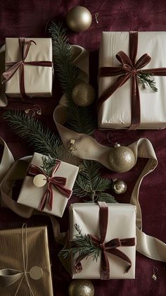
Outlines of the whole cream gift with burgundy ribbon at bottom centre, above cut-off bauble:
{"label": "whole cream gift with burgundy ribbon at bottom centre, above cut-off bauble", "polygon": [[[134,278],[136,207],[131,204],[72,204],[70,245],[79,247],[79,235],[88,235],[89,252],[71,257],[72,278]],[[87,245],[86,245],[87,247]],[[93,249],[96,248],[97,259]],[[88,247],[87,247],[88,249]],[[70,253],[73,254],[73,253]]]}

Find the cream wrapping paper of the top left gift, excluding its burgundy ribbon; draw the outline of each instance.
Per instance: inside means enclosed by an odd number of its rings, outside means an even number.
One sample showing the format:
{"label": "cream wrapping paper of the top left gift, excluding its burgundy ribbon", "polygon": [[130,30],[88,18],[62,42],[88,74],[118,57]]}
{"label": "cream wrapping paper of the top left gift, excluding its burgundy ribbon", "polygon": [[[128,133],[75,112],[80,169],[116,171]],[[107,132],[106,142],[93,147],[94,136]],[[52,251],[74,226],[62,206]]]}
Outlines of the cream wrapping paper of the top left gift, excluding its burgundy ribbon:
{"label": "cream wrapping paper of the top left gift, excluding its burgundy ribbon", "polygon": [[[50,61],[52,62],[51,38],[25,38],[25,49],[27,42],[32,39],[25,62]],[[6,38],[6,63],[21,61],[21,52],[18,38]],[[11,66],[6,66],[6,70]],[[51,66],[34,66],[25,64],[25,93],[28,97],[51,97],[53,68]],[[20,69],[6,83],[6,94],[9,97],[21,97],[20,95]]]}

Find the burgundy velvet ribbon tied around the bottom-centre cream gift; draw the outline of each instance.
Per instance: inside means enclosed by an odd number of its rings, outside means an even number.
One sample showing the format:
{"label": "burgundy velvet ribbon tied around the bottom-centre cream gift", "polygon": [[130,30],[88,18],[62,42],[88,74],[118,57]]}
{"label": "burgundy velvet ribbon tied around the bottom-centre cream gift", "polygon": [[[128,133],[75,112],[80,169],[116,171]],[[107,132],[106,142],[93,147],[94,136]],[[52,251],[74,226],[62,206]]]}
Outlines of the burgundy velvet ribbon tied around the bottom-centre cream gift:
{"label": "burgundy velvet ribbon tied around the bottom-centre cream gift", "polygon": [[[89,235],[91,241],[101,249],[101,280],[108,280],[110,278],[110,266],[107,257],[107,252],[110,254],[114,254],[117,257],[127,261],[129,266],[126,268],[126,272],[132,266],[132,261],[125,255],[120,249],[117,247],[132,247],[135,245],[135,238],[114,238],[109,242],[105,242],[107,227],[108,227],[108,206],[106,202],[98,202],[99,209],[99,227],[100,227],[100,234],[101,238],[96,238],[94,235]],[[75,260],[75,271],[78,273],[82,271],[82,264],[81,261],[87,257],[87,255],[81,255],[77,257]]]}

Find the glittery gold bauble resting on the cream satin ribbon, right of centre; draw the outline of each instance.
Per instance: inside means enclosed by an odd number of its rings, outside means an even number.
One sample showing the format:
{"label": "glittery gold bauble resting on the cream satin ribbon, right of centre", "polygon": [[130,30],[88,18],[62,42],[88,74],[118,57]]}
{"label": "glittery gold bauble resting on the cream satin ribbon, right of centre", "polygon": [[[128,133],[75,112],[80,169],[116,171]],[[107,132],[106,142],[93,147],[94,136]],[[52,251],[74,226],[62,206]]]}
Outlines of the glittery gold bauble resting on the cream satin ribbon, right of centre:
{"label": "glittery gold bauble resting on the cream satin ribbon, right of centre", "polygon": [[117,173],[125,173],[131,170],[135,164],[132,149],[120,146],[120,144],[115,144],[115,148],[111,148],[108,158],[110,169]]}

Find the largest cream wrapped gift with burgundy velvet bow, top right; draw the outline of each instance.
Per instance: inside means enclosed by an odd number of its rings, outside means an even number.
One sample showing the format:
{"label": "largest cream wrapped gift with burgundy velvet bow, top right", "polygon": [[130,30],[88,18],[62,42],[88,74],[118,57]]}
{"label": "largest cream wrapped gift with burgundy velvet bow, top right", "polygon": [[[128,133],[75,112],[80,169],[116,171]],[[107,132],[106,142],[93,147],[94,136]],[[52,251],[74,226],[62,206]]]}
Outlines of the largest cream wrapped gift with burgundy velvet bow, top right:
{"label": "largest cream wrapped gift with burgundy velvet bow, top right", "polygon": [[[166,32],[103,32],[99,54],[99,128],[166,127]],[[138,75],[153,80],[143,88]]]}

